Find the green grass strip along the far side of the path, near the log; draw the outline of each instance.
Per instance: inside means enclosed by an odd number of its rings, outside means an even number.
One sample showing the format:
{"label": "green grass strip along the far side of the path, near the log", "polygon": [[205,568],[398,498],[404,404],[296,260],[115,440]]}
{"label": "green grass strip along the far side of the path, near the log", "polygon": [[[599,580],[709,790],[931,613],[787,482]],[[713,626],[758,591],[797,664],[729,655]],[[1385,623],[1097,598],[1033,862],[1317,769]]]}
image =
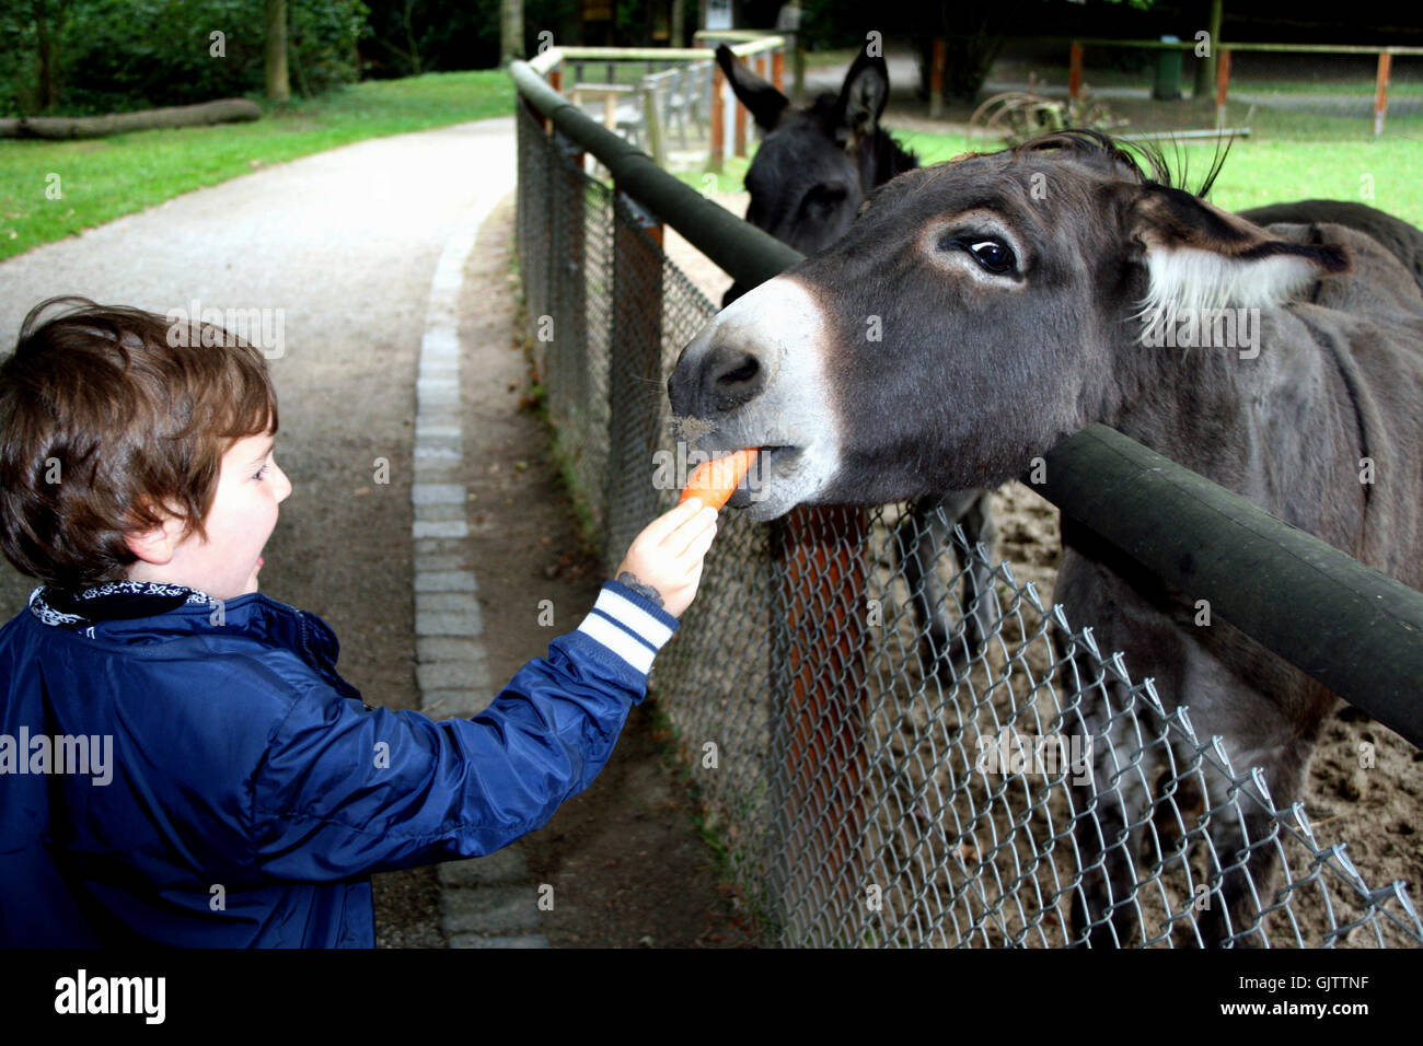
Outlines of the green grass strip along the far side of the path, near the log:
{"label": "green grass strip along the far side of the path, near the log", "polygon": [[[135,131],[88,141],[0,139],[0,259],[184,192],[323,149],[514,111],[498,70],[356,84],[263,102],[250,124]],[[46,195],[58,175],[60,199]]]}

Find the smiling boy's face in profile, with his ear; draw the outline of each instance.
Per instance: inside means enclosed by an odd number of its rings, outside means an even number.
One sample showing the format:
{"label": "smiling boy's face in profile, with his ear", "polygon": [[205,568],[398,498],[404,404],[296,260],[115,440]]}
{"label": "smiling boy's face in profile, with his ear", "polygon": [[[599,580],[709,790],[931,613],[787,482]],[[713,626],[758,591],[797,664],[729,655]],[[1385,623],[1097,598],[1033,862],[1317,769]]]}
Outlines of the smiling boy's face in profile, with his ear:
{"label": "smiling boy's face in profile, with his ear", "polygon": [[222,455],[218,494],[203,525],[181,538],[182,521],[169,517],[164,527],[131,534],[138,555],[128,576],[185,585],[216,599],[235,599],[258,591],[262,546],[276,528],[277,505],[292,492],[286,474],[272,455],[273,437],[249,435]]}

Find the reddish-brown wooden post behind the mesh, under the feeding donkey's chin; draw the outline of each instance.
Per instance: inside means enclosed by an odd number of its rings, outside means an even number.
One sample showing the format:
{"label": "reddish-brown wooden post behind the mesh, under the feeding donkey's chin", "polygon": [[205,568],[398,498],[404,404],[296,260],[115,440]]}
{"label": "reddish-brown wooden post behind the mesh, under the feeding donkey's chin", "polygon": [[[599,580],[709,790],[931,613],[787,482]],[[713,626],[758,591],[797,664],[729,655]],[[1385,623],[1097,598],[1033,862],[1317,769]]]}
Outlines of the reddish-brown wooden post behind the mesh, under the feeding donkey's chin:
{"label": "reddish-brown wooden post behind the mesh, under the feeding donkey's chin", "polygon": [[773,525],[773,895],[784,944],[857,945],[868,768],[864,508],[795,508]]}

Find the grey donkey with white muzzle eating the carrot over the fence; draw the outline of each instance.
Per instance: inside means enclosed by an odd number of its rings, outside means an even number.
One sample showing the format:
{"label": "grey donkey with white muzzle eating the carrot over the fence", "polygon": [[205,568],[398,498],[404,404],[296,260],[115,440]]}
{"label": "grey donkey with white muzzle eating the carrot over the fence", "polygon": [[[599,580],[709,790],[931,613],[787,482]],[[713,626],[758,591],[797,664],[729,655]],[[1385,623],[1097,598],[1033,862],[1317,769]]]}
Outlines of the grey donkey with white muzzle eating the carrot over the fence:
{"label": "grey donkey with white muzzle eating the carrot over the fence", "polygon": [[[1100,421],[1423,586],[1413,275],[1356,229],[1262,228],[1151,167],[1148,176],[1106,135],[1074,131],[911,171],[828,250],[717,315],[667,391],[675,416],[697,418],[702,450],[764,448],[760,490],[730,504],[766,521],[800,504],[992,487]],[[1143,344],[1171,310],[1224,307],[1257,310],[1258,352]],[[867,315],[882,317],[884,344],[865,343]],[[1360,482],[1362,458],[1376,482]],[[1185,593],[1084,528],[1064,527],[1063,545],[1067,619],[1094,625],[1101,649],[1154,677],[1168,713],[1190,704],[1197,733],[1220,734],[1237,771],[1259,767],[1269,800],[1288,808],[1333,694],[1227,623],[1197,628]],[[1107,682],[1080,706],[1089,734],[1113,737],[1117,753],[1134,747],[1114,736],[1124,717],[1113,707],[1127,700]],[[1077,945],[1126,942],[1136,925],[1133,852],[1154,790],[1141,780],[1157,780],[1164,753],[1150,747],[1158,766],[1116,784],[1113,747],[1093,744],[1093,794],[1074,804]],[[1190,753],[1173,754],[1190,766]],[[1195,929],[1208,945],[1258,944],[1251,884],[1268,904],[1269,818],[1252,784],[1237,815],[1224,776],[1208,764],[1202,776],[1225,871]]]}

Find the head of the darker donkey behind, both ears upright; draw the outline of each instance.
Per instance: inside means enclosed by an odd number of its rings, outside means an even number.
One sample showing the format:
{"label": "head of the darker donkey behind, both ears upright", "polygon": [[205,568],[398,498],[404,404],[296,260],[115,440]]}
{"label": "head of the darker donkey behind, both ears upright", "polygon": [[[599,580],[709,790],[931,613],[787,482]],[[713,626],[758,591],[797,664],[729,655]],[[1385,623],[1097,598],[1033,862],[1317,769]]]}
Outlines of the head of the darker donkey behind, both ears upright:
{"label": "head of the darker donkey behind, both ears upright", "polygon": [[[766,132],[746,172],[751,194],[746,221],[803,255],[845,235],[871,189],[918,165],[879,128],[889,98],[884,58],[861,53],[838,98],[822,94],[797,110],[724,44],[716,57],[736,97]],[[730,305],[744,292],[737,283],[721,303]]]}

